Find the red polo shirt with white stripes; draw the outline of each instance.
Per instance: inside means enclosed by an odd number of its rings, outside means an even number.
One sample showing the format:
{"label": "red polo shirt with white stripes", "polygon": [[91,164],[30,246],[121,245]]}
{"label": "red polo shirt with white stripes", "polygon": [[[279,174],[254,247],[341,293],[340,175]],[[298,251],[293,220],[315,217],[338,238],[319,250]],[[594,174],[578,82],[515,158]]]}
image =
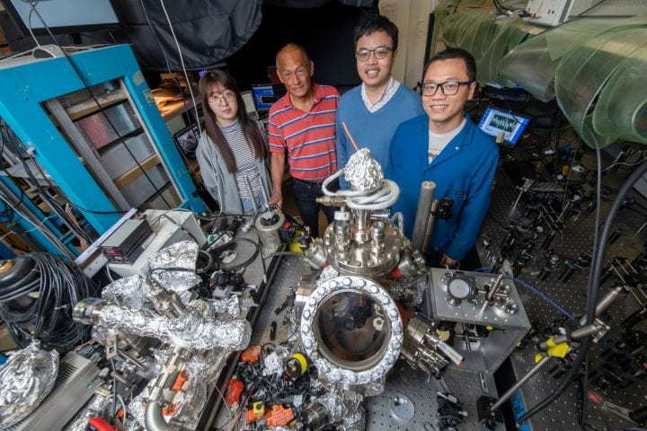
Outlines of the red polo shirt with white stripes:
{"label": "red polo shirt with white stripes", "polygon": [[315,84],[315,105],[309,112],[292,105],[289,93],[270,108],[270,152],[288,150],[290,175],[322,182],[337,171],[335,119],[340,95],[330,85]]}

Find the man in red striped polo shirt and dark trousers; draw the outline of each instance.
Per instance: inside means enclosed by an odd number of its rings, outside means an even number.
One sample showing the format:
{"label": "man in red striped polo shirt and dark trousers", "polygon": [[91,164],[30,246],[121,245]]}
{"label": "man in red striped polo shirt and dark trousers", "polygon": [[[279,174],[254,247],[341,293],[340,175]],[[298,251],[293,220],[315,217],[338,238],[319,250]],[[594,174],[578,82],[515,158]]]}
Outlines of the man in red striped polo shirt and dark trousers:
{"label": "man in red striped polo shirt and dark trousers", "polygon": [[[312,82],[315,65],[306,50],[288,44],[277,54],[277,72],[288,91],[270,108],[269,144],[274,184],[270,202],[279,207],[283,197],[281,180],[286,151],[295,200],[306,226],[319,235],[319,209],[332,221],[332,207],[316,198],[323,195],[321,184],[337,170],[335,118],[340,95],[329,85]],[[337,187],[332,184],[332,188]]]}

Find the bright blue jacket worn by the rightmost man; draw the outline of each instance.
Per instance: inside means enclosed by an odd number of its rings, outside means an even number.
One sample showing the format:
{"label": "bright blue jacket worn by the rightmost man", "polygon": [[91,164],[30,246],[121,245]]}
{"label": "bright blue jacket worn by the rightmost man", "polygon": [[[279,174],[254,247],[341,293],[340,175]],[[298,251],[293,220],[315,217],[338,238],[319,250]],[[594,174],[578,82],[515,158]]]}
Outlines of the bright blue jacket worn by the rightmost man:
{"label": "bright blue jacket worn by the rightmost man", "polygon": [[436,220],[430,245],[460,260],[474,247],[490,207],[499,148],[491,136],[466,118],[463,130],[429,163],[428,121],[426,114],[421,115],[395,131],[385,173],[400,186],[393,211],[403,213],[404,232],[411,238],[421,182],[434,181],[434,198],[451,198],[454,207],[450,220]]}

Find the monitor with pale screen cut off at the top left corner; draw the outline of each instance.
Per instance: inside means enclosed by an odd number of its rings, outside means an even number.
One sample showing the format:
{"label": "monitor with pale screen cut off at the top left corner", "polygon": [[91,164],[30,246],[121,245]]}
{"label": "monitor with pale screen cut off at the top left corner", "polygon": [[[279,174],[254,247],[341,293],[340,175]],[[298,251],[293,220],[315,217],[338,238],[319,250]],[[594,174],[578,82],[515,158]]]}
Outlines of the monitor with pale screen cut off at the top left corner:
{"label": "monitor with pale screen cut off at the top left corner", "polygon": [[110,0],[40,0],[33,6],[38,13],[32,11],[31,3],[28,0],[4,0],[7,12],[13,15],[13,20],[25,34],[29,34],[30,28],[35,34],[47,34],[42,21],[50,31],[58,34],[119,26],[119,18]]}

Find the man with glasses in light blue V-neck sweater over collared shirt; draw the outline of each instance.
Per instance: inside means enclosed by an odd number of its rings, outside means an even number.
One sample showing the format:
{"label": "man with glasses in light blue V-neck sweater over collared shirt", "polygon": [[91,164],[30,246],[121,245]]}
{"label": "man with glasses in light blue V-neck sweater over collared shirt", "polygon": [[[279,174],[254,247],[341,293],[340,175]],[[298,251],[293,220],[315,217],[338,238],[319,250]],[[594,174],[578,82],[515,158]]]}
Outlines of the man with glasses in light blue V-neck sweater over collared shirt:
{"label": "man with glasses in light blue V-neck sweater over collared shirt", "polygon": [[[355,148],[342,123],[359,148],[386,168],[395,128],[423,113],[420,96],[391,76],[398,45],[398,30],[381,15],[369,15],[355,28],[355,58],[362,84],[341,96],[337,109],[337,165],[343,168]],[[348,187],[341,181],[343,188]]]}

